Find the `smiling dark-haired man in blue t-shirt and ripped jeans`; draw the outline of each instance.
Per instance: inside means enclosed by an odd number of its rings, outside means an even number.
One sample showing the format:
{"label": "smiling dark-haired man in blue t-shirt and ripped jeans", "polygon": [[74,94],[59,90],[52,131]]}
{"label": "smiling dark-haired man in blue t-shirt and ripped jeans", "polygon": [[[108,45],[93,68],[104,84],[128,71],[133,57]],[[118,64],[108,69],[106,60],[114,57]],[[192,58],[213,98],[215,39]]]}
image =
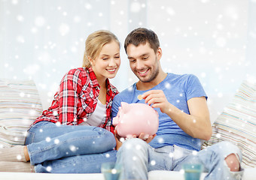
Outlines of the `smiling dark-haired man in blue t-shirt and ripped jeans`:
{"label": "smiling dark-haired man in blue t-shirt and ripped jeans", "polygon": [[111,116],[117,115],[120,102],[149,104],[159,113],[159,129],[157,136],[147,139],[142,133],[123,142],[117,152],[123,179],[147,179],[148,171],[157,169],[178,171],[184,163],[203,164],[209,172],[205,179],[234,179],[242,160],[236,145],[220,142],[200,151],[200,139],[211,137],[212,126],[197,77],[163,72],[157,34],[147,28],[131,31],[124,48],[139,81],[114,97]]}

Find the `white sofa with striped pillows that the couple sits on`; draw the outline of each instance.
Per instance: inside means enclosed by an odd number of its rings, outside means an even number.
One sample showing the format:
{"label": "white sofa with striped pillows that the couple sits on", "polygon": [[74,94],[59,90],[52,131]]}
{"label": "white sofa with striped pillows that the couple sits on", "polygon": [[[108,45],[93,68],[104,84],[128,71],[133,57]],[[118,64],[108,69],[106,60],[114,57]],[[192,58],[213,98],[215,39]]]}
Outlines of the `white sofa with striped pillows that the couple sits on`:
{"label": "white sofa with striped pillows that the couple sits on", "polygon": [[[242,82],[233,100],[213,123],[212,138],[203,142],[206,148],[216,142],[230,141],[242,151],[242,179],[256,179],[256,83]],[[43,110],[46,95],[39,95],[33,80],[0,80],[0,148],[23,145],[26,130]],[[184,172],[151,171],[150,180],[184,179]],[[201,179],[206,173],[201,175]],[[1,179],[104,179],[97,174],[50,174],[0,172]]]}

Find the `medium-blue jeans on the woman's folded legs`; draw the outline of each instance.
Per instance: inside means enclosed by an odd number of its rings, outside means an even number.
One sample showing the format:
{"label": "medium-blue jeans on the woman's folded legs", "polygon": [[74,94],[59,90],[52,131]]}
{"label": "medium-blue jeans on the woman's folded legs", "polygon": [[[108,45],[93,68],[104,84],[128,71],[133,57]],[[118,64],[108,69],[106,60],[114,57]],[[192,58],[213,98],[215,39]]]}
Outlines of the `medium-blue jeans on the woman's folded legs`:
{"label": "medium-blue jeans on the woman's folded legs", "polygon": [[116,160],[114,135],[100,127],[40,121],[28,130],[25,145],[35,172],[99,173],[102,163]]}

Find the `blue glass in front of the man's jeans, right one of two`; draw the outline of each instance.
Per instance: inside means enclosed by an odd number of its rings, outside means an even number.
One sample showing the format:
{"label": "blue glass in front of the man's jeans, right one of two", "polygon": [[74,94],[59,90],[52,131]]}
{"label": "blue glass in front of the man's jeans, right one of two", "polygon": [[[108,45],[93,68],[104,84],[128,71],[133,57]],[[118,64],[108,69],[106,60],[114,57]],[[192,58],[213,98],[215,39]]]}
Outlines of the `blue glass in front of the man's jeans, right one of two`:
{"label": "blue glass in front of the man's jeans, right one of two", "polygon": [[203,171],[202,164],[187,163],[183,165],[185,180],[200,180]]}

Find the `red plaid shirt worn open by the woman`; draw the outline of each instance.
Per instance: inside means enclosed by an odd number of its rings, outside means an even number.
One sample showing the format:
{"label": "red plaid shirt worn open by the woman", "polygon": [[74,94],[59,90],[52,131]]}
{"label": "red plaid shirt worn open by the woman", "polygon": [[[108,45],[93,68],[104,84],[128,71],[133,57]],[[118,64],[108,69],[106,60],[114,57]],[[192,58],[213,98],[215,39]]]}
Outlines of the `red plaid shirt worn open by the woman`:
{"label": "red plaid shirt worn open by the woman", "polygon": [[[111,125],[112,100],[118,94],[117,89],[106,80],[106,116],[99,127],[114,133]],[[65,125],[78,125],[96,109],[99,97],[99,83],[92,68],[77,68],[69,71],[59,86],[59,92],[54,95],[53,103],[44,110],[38,121],[59,122]]]}

